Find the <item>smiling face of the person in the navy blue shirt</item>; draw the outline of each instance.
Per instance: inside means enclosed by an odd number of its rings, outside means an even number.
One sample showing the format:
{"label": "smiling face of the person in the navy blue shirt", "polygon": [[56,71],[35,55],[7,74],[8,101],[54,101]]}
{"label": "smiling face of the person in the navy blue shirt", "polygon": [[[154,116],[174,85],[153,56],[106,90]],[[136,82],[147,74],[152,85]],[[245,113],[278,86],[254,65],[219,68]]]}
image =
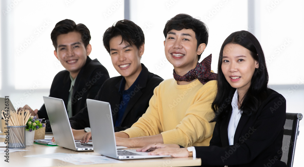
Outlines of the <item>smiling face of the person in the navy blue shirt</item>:
{"label": "smiling face of the person in the navy blue shirt", "polygon": [[139,49],[135,45],[130,45],[122,37],[113,37],[110,42],[110,56],[116,71],[125,77],[126,81],[135,81],[142,69],[140,57],[144,52],[144,44]]}

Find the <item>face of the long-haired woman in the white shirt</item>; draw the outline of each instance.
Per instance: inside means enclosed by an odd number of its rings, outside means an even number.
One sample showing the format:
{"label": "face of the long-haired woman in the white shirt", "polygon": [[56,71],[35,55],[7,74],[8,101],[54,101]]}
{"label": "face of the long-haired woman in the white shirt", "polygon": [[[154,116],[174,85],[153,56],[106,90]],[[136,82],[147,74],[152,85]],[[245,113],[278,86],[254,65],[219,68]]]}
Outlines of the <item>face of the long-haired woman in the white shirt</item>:
{"label": "face of the long-haired woman in the white shirt", "polygon": [[228,43],[223,49],[222,61],[222,71],[228,83],[238,92],[247,92],[254,70],[259,68],[250,50],[239,44]]}

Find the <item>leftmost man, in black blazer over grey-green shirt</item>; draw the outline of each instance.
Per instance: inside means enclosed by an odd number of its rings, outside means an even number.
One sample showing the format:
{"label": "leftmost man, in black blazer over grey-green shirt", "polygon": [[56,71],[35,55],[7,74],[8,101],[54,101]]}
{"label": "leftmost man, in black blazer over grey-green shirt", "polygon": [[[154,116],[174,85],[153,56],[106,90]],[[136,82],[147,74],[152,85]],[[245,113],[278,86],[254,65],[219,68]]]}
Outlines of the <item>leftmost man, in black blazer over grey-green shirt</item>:
{"label": "leftmost man, in black blazer over grey-green shirt", "polygon": [[[51,39],[55,47],[54,55],[66,69],[55,77],[50,89],[50,97],[63,99],[69,117],[76,115],[85,107],[86,99],[96,96],[103,82],[109,78],[107,69],[88,55],[92,46],[90,31],[84,24],[75,24],[65,19],[56,24],[51,32]],[[45,105],[40,110],[29,109],[37,118],[48,120]],[[47,131],[50,125],[47,124]]]}

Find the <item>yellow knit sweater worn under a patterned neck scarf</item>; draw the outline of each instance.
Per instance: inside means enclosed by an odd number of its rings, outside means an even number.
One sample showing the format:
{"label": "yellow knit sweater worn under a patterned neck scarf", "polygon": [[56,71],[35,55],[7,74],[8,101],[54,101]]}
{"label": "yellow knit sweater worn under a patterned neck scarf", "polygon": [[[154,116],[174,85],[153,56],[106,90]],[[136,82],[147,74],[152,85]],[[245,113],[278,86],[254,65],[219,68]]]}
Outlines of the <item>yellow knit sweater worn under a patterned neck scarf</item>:
{"label": "yellow knit sweater worn under a patterned neck scarf", "polygon": [[183,147],[208,146],[215,123],[211,104],[216,94],[216,81],[202,85],[198,79],[178,85],[167,79],[155,89],[145,114],[123,132],[131,137],[161,134],[164,144]]}

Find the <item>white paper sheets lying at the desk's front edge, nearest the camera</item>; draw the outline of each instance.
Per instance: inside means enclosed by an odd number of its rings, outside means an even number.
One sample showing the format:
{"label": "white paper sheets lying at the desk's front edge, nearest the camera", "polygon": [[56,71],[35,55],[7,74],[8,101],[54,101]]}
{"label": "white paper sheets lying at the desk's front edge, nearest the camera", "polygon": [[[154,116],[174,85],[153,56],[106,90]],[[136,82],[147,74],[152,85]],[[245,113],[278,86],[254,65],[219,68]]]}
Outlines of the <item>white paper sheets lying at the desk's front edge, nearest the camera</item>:
{"label": "white paper sheets lying at the desk's front edge, nearest the camera", "polygon": [[67,154],[67,153],[60,153],[60,152],[54,153],[54,154],[27,155],[24,157],[59,159],[61,161],[72,163],[74,165],[124,163],[123,161],[119,161],[119,160],[108,158],[108,157],[101,156],[101,155]]}

